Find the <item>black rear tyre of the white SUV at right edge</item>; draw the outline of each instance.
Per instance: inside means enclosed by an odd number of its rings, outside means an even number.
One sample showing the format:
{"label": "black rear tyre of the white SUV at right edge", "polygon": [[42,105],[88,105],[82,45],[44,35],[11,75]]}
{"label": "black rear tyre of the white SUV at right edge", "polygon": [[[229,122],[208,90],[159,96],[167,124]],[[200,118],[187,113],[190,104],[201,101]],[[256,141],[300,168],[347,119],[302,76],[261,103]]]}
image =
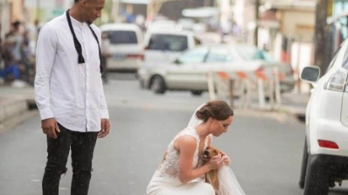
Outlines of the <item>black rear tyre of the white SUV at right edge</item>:
{"label": "black rear tyre of the white SUV at right edge", "polygon": [[[308,160],[310,162],[310,157]],[[303,195],[327,195],[329,193],[329,178],[326,169],[321,165],[309,162],[307,163]]]}

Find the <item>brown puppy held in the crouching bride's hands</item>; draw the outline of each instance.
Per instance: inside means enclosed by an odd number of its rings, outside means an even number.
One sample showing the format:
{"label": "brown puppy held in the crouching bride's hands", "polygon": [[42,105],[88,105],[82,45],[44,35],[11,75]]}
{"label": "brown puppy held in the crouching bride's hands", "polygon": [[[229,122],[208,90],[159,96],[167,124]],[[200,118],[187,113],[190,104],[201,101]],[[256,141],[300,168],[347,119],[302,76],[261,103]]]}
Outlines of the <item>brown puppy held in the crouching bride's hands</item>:
{"label": "brown puppy held in the crouching bride's hands", "polygon": [[[207,163],[213,156],[221,153],[219,149],[208,147],[202,154],[204,164]],[[217,178],[217,169],[210,170],[205,174],[205,182],[211,184],[217,192],[219,190],[219,179]]]}

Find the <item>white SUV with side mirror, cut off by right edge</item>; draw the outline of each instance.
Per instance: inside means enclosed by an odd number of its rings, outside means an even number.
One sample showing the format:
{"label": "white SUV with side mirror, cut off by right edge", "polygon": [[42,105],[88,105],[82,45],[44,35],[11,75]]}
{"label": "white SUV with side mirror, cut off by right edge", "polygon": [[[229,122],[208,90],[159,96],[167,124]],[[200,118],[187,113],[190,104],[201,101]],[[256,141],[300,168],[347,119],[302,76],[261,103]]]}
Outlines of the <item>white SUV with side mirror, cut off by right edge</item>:
{"label": "white SUV with side mirror, cut off by right edge", "polygon": [[343,42],[326,73],[305,67],[311,83],[306,109],[306,138],[299,185],[304,195],[327,195],[335,182],[348,179],[348,41]]}

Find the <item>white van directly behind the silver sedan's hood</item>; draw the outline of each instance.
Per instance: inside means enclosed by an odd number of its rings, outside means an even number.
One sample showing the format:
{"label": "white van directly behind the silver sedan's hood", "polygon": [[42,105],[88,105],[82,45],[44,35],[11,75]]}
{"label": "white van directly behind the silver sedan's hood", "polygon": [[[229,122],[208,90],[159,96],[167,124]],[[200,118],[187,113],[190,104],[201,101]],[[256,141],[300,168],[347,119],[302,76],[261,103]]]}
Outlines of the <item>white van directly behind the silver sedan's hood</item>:
{"label": "white van directly behind the silver sedan's hood", "polygon": [[194,48],[199,41],[193,32],[170,29],[151,29],[144,36],[144,65],[164,65],[179,54]]}

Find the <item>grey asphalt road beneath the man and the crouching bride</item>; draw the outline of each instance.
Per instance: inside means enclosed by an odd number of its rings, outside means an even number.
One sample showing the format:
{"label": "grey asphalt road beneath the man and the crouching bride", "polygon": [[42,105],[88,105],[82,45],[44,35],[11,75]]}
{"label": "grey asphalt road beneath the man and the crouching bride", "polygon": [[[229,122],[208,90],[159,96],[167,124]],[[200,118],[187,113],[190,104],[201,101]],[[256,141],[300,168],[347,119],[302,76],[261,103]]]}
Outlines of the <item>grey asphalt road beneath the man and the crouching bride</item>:
{"label": "grey asphalt road beneath the man and the crouching bride", "polygon": [[[145,195],[168,143],[207,96],[153,96],[125,81],[111,82],[105,94],[112,130],[97,142],[89,194]],[[0,195],[41,194],[45,140],[38,116],[0,134]],[[231,168],[247,195],[301,195],[303,142],[304,125],[295,117],[250,110],[236,110],[228,133],[213,139],[231,157]],[[61,195],[70,194],[70,160],[67,167]],[[348,194],[347,183],[330,192],[339,194]]]}

